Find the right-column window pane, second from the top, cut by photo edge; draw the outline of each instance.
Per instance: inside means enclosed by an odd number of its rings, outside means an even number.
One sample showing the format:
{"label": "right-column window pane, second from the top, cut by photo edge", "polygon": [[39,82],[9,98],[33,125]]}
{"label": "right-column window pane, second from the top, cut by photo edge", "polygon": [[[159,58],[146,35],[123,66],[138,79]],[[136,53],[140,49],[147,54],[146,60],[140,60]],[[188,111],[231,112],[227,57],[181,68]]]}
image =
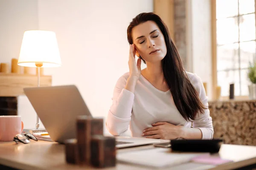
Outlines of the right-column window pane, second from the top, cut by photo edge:
{"label": "right-column window pane, second from the top, cut by photo edge", "polygon": [[255,14],[239,17],[240,42],[255,40]]}

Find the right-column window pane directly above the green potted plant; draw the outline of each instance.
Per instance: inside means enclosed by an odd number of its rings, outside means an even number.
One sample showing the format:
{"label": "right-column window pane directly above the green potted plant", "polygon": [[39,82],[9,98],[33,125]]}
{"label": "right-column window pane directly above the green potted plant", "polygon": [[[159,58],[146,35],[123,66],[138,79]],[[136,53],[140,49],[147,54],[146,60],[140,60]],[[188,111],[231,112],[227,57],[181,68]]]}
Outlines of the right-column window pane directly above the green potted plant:
{"label": "right-column window pane directly above the green potted plant", "polygon": [[248,68],[249,62],[253,63],[255,60],[256,43],[255,41],[240,43],[240,62],[241,68]]}

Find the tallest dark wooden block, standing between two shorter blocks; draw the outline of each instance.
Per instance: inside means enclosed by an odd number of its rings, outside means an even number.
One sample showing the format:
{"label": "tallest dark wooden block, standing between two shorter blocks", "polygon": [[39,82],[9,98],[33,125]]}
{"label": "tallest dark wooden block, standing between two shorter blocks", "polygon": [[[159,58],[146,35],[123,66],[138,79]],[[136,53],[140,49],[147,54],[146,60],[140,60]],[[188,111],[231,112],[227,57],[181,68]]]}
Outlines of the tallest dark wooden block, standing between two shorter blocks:
{"label": "tallest dark wooden block, standing between two shorter blocks", "polygon": [[89,164],[91,136],[103,135],[103,119],[94,119],[91,116],[79,116],[76,125],[79,164]]}

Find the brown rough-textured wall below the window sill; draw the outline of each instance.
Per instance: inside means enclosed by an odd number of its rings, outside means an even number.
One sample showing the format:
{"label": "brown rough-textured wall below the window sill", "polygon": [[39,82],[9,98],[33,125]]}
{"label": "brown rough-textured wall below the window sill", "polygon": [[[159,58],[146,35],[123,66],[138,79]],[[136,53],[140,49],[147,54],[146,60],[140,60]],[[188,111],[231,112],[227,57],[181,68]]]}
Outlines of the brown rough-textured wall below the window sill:
{"label": "brown rough-textured wall below the window sill", "polygon": [[256,100],[209,102],[214,138],[256,146]]}

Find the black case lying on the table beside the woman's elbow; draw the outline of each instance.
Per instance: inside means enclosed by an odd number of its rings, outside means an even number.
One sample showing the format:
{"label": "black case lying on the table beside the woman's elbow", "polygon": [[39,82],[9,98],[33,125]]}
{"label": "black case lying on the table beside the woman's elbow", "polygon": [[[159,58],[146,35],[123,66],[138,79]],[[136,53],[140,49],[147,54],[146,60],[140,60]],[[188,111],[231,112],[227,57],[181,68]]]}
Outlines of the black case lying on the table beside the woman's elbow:
{"label": "black case lying on the table beside the woman's elbow", "polygon": [[217,153],[222,143],[222,139],[171,140],[171,148],[173,151]]}

